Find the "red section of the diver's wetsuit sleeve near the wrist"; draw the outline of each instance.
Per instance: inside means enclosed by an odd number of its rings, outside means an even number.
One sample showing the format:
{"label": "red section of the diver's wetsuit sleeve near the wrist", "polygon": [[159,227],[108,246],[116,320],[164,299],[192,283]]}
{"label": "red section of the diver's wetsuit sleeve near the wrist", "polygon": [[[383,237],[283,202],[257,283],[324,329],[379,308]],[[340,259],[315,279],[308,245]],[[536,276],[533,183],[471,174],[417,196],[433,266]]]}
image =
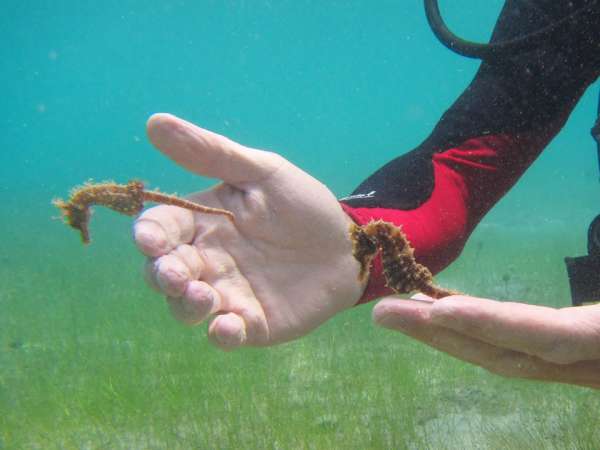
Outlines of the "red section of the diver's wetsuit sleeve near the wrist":
{"label": "red section of the diver's wetsuit sleeve near the wrist", "polygon": [[[434,274],[462,251],[467,238],[487,211],[510,189],[546,146],[548,139],[483,136],[433,155],[434,189],[410,210],[351,207],[344,211],[359,225],[385,220],[402,227],[416,260]],[[381,260],[371,268],[361,303],[391,294]]]}

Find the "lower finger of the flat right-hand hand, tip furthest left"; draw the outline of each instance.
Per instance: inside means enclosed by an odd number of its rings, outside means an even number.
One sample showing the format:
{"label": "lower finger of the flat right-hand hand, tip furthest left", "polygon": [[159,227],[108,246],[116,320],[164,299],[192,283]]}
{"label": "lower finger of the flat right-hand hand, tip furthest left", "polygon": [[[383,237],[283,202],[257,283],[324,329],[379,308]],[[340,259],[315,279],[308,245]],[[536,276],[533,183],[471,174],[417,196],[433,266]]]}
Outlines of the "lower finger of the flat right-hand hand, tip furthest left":
{"label": "lower finger of the flat right-hand hand, tip furthest left", "polygon": [[434,324],[433,308],[422,301],[386,299],[375,306],[373,318],[378,325],[498,375],[600,387],[600,361],[561,365],[497,347]]}

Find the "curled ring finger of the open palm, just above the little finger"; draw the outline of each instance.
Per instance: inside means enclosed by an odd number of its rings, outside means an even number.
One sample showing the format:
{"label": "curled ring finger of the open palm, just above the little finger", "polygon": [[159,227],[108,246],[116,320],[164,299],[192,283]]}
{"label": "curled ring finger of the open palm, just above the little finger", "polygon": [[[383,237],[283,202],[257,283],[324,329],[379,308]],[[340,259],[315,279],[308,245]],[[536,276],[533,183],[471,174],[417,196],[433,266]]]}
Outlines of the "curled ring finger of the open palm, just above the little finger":
{"label": "curled ring finger of the open palm, just above the little finger", "polygon": [[186,325],[197,325],[221,307],[217,291],[203,281],[190,281],[183,296],[168,298],[173,316]]}

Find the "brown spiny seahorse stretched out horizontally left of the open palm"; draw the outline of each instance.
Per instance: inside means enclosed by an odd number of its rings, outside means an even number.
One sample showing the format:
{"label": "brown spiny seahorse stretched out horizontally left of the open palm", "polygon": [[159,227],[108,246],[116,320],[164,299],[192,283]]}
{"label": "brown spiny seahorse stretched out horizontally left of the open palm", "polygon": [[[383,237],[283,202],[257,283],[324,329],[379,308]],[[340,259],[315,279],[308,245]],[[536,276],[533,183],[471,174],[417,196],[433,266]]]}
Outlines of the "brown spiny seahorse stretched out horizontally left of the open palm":
{"label": "brown spiny seahorse stretched out horizontally left of the open palm", "polygon": [[86,183],[74,188],[68,201],[56,199],[53,203],[61,210],[65,222],[79,230],[82,241],[88,244],[90,242],[88,225],[93,205],[106,206],[121,214],[135,216],[142,211],[146,201],[179,206],[206,214],[222,214],[230,220],[234,218],[233,213],[224,209],[200,205],[162,192],[146,191],[144,184],[138,180],[132,180],[126,185],[113,182]]}

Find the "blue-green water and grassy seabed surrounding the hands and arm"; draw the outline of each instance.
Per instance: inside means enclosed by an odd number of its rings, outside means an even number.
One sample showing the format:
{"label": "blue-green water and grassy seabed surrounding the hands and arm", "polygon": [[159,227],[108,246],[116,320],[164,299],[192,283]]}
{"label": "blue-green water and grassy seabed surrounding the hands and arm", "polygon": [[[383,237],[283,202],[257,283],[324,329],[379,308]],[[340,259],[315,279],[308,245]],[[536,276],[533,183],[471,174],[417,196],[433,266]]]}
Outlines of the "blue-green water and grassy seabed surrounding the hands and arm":
{"label": "blue-green water and grassy seabed surrounding the hands and arm", "polygon": [[[500,0],[443,1],[485,41]],[[155,151],[171,112],[277,151],[342,197],[423,140],[478,63],[420,1],[3,1],[0,449],[597,448],[600,393],[510,380],[372,326],[372,304],[271,349],[223,353],[142,278],[131,218],[94,242],[51,205],[88,179],[185,194]],[[556,307],[598,214],[598,85],[440,284]]]}

